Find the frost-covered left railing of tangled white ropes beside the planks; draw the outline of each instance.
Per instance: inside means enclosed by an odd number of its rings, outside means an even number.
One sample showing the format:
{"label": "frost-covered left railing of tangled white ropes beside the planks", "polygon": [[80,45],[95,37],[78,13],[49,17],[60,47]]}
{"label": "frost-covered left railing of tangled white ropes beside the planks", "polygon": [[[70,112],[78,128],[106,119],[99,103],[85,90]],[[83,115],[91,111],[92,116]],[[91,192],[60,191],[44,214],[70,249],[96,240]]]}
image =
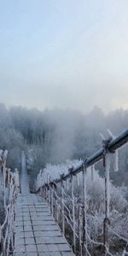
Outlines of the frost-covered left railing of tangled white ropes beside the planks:
{"label": "frost-covered left railing of tangled white ropes beside the planks", "polygon": [[19,192],[19,173],[6,167],[8,151],[0,150],[0,255],[8,256],[14,250],[15,199]]}

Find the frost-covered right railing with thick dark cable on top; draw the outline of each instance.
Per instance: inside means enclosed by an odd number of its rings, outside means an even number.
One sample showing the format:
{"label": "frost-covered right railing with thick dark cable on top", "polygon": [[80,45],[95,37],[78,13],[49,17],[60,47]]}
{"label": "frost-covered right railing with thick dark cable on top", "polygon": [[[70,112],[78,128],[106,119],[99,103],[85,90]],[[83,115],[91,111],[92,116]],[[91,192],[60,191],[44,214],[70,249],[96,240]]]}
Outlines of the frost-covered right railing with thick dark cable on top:
{"label": "frost-covered right railing with thick dark cable on top", "polygon": [[[94,251],[91,252],[92,246],[96,247],[100,256],[113,255],[109,250],[109,234],[113,234],[117,240],[123,242],[124,252],[122,255],[126,255],[127,237],[116,233],[110,224],[109,171],[112,157],[114,171],[118,171],[118,149],[128,142],[128,130],[120,133],[118,137],[113,137],[110,131],[108,133],[108,139],[102,137],[102,148],[96,154],[84,160],[78,167],[69,168],[67,173],[61,173],[61,177],[54,178],[54,173],[44,170],[38,174],[38,189],[48,202],[55,219],[61,224],[61,230],[67,236],[76,255],[97,255]],[[90,235],[88,228],[87,173],[89,170],[91,171],[93,182],[95,164],[100,160],[102,160],[105,173],[104,217],[102,218],[103,230],[100,230],[100,239],[96,241],[95,236]],[[81,177],[81,183],[79,177]],[[96,218],[96,216],[92,215],[92,218]]]}

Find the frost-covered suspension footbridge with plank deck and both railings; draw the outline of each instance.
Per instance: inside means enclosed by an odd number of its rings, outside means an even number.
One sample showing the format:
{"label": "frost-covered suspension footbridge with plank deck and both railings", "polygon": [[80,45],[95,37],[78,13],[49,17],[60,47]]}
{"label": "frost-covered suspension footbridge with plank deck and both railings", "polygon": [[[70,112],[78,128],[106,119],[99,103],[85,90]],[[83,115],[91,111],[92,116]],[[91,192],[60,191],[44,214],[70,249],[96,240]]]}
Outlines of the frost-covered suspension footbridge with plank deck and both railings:
{"label": "frost-covered suspension footbridge with plank deck and both railings", "polygon": [[[7,151],[0,151],[0,181],[3,201],[3,221],[0,225],[1,256],[108,256],[113,255],[109,247],[109,233],[123,241],[121,254],[126,256],[128,239],[117,234],[109,220],[109,172],[110,156],[115,155],[118,169],[118,149],[128,142],[128,130],[118,137],[111,134],[103,139],[102,148],[83,161],[80,166],[69,168],[54,178],[44,170],[37,180],[37,193],[29,190],[26,174],[26,155],[21,154],[21,174],[6,167]],[[102,241],[96,241],[88,232],[87,172],[101,161],[105,172],[105,211],[102,223]],[[81,193],[76,196],[75,183],[82,177]],[[20,180],[20,181],[19,181]],[[77,197],[77,201],[76,201]],[[68,203],[67,203],[68,201]],[[95,218],[95,216],[94,216]],[[69,245],[70,244],[70,245]],[[98,252],[91,252],[95,246]],[[115,255],[115,254],[114,254]]]}

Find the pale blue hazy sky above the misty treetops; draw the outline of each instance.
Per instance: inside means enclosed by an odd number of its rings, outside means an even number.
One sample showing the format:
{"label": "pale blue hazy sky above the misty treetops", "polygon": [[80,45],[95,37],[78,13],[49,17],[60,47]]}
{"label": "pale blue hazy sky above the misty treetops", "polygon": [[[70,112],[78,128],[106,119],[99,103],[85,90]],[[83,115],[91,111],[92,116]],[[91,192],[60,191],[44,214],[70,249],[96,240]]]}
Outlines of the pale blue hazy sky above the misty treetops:
{"label": "pale blue hazy sky above the misty treetops", "polygon": [[127,0],[0,0],[0,102],[128,108]]}

